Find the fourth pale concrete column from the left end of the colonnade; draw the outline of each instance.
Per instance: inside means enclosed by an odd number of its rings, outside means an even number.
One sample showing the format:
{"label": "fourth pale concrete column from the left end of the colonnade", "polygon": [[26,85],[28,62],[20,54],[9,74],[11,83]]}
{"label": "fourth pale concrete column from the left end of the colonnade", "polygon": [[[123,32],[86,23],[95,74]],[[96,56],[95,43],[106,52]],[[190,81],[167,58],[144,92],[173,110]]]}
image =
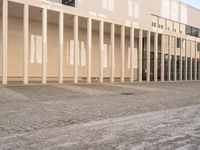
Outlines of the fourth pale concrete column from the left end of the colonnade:
{"label": "fourth pale concrete column from the left end of the colonnade", "polygon": [[60,55],[59,55],[59,83],[63,83],[63,46],[64,46],[64,14],[59,13],[59,41],[60,41]]}

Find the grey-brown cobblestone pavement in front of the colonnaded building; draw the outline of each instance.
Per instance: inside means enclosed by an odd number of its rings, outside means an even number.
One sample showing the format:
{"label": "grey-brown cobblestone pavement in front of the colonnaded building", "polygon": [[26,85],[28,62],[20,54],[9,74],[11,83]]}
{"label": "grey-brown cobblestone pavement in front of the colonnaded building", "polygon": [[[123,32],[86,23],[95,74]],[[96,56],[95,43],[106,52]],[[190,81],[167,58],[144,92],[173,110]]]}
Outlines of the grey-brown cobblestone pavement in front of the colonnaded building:
{"label": "grey-brown cobblestone pavement in front of the colonnaded building", "polygon": [[200,82],[0,86],[0,150],[198,150]]}

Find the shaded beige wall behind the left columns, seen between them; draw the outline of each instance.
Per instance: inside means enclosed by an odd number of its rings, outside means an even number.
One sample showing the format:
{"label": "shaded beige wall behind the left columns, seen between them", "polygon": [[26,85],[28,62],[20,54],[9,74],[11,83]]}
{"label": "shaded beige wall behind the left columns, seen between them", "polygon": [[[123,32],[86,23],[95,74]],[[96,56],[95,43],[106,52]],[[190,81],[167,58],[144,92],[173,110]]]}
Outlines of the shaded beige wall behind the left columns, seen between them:
{"label": "shaded beige wall behind the left columns, seen between them", "polygon": [[[0,18],[1,19],[1,18]],[[42,64],[31,63],[31,35],[39,35],[42,33],[42,23],[30,20],[29,31],[29,79],[41,78]],[[1,25],[1,24],[0,24]],[[9,34],[8,34],[8,77],[23,78],[23,21],[19,18],[9,17]],[[1,28],[1,26],[0,26]],[[1,31],[1,30],[0,30]],[[73,40],[73,28],[65,26],[64,28],[64,77],[73,77],[73,65],[67,63],[67,53],[69,56],[69,40]],[[2,31],[1,31],[2,32]],[[2,33],[0,33],[2,35]],[[79,29],[79,41],[83,41],[86,47],[86,30]],[[110,34],[104,34],[104,43],[110,44]],[[120,35],[115,36],[115,77],[120,77],[121,58],[120,58]],[[135,39],[135,51],[138,51],[138,39]],[[0,36],[0,45],[2,45],[2,36]],[[129,77],[128,69],[128,49],[130,45],[130,37],[126,37],[125,41],[125,77]],[[47,77],[58,77],[58,61],[59,61],[59,38],[58,25],[48,24],[48,62]],[[136,53],[138,54],[138,53]],[[2,49],[0,49],[0,57],[2,57]],[[137,61],[137,56],[134,56]],[[137,79],[137,66],[135,66],[135,80]],[[86,77],[86,66],[79,66],[79,77]],[[0,75],[2,75],[2,61],[0,61]],[[92,32],[92,77],[99,76],[99,33]],[[104,77],[110,77],[110,67],[104,68]]]}

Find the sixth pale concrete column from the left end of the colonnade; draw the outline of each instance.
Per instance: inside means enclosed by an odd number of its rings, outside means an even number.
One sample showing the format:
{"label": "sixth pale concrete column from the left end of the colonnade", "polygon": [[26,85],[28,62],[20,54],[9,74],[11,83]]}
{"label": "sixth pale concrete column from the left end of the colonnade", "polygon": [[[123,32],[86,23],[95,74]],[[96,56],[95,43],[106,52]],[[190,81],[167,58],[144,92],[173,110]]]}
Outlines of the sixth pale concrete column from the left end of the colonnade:
{"label": "sixth pale concrete column from the left end of the colonnade", "polygon": [[91,83],[92,19],[87,19],[87,83]]}

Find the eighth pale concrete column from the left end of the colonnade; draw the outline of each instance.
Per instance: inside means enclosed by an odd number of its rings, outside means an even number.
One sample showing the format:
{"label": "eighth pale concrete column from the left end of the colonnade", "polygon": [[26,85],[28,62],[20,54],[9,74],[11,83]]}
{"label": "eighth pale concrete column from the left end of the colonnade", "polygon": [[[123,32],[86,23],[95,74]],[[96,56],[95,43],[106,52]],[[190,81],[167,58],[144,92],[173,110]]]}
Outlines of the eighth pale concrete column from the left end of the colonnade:
{"label": "eighth pale concrete column from the left end of the colonnade", "polygon": [[115,24],[111,24],[111,75],[110,82],[114,83],[115,78]]}

